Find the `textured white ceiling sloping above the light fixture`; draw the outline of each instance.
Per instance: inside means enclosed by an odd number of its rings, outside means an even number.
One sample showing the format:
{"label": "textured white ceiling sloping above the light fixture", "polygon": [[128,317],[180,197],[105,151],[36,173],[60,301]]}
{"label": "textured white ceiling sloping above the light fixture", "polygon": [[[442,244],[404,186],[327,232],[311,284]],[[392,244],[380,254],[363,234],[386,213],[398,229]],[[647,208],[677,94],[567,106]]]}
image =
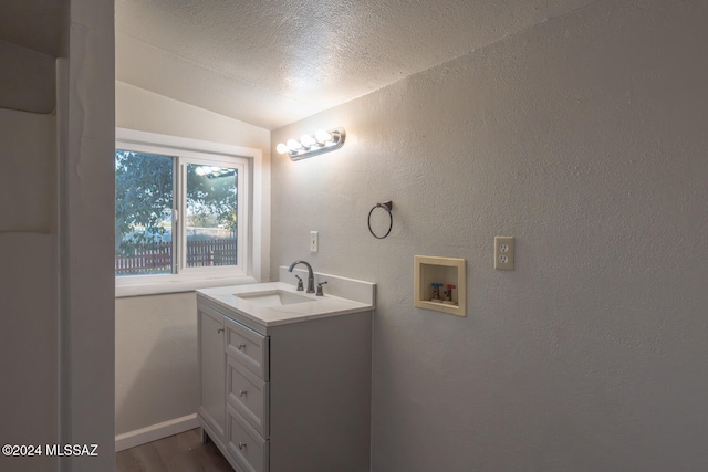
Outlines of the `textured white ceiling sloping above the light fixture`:
{"label": "textured white ceiling sloping above the light fixture", "polygon": [[268,129],[597,0],[116,0],[116,78]]}

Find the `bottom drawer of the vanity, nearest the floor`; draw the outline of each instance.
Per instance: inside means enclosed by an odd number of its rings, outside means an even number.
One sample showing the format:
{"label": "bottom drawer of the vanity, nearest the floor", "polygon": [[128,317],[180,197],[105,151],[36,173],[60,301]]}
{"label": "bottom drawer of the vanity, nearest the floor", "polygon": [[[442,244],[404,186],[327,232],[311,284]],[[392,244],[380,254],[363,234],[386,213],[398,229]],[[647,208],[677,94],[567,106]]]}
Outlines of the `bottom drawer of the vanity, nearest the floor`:
{"label": "bottom drawer of the vanity, nearest the floor", "polygon": [[228,417],[229,453],[236,458],[244,471],[268,472],[269,442],[261,438],[230,406]]}

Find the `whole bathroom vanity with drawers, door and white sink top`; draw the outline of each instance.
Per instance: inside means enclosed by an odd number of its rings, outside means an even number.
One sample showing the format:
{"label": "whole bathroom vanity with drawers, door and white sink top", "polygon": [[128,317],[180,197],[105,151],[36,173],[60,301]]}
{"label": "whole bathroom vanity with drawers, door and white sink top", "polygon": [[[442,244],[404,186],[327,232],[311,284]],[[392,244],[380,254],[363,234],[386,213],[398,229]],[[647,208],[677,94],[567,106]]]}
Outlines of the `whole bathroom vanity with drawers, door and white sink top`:
{"label": "whole bathroom vanity with drawers, door and white sink top", "polygon": [[239,472],[369,469],[375,285],[317,277],[197,291],[197,417]]}

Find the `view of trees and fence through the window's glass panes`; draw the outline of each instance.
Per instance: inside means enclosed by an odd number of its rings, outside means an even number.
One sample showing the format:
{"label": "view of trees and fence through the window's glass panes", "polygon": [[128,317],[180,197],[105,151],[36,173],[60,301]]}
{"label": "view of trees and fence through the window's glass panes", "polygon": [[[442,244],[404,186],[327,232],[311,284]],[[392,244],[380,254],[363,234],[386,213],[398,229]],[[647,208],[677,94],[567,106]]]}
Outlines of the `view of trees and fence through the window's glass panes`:
{"label": "view of trees and fence through the window's glass panes", "polygon": [[116,275],[238,264],[238,168],[194,160],[116,150]]}

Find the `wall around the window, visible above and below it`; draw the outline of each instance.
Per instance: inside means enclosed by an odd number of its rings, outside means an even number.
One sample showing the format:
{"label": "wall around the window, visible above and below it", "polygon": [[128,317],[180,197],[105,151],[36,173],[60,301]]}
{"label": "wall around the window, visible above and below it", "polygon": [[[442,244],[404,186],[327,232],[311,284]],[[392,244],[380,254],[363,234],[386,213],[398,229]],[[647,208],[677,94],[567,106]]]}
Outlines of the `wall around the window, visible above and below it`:
{"label": "wall around the window, visible above and below it", "polygon": [[[269,130],[121,82],[116,126],[260,148],[269,160]],[[116,434],[131,441],[197,411],[197,304],[188,292],[116,298],[115,307]]]}

